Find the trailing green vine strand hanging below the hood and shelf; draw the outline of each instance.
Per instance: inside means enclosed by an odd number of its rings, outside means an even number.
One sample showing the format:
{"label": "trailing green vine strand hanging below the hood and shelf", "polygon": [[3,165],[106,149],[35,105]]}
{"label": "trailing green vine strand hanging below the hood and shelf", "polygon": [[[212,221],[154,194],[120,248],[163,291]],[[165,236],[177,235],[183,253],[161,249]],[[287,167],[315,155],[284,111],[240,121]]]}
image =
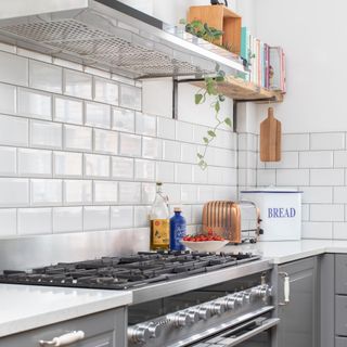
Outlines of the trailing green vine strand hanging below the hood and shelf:
{"label": "trailing green vine strand hanging below the hood and shelf", "polygon": [[205,170],[208,166],[206,162],[206,153],[209,144],[216,139],[217,130],[222,126],[227,125],[228,127],[232,127],[232,121],[230,117],[220,116],[220,106],[221,103],[226,101],[226,97],[218,91],[218,83],[223,82],[226,79],[226,73],[216,67],[216,77],[206,77],[205,86],[197,90],[194,95],[195,104],[201,105],[207,101],[208,98],[213,99],[210,106],[215,112],[216,125],[213,129],[207,130],[206,136],[203,138],[204,149],[202,152],[197,152],[197,164],[198,166]]}

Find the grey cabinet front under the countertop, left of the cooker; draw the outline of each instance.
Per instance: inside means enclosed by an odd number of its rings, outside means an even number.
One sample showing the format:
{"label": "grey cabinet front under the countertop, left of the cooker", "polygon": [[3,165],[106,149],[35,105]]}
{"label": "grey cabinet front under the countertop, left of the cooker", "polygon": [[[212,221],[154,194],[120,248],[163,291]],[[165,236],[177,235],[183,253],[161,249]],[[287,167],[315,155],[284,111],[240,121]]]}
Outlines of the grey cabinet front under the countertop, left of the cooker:
{"label": "grey cabinet front under the countertop, left of the cooker", "polygon": [[125,347],[127,309],[117,308],[0,337],[1,347],[40,347],[40,340],[52,340],[68,332],[83,331],[85,338],[69,347]]}

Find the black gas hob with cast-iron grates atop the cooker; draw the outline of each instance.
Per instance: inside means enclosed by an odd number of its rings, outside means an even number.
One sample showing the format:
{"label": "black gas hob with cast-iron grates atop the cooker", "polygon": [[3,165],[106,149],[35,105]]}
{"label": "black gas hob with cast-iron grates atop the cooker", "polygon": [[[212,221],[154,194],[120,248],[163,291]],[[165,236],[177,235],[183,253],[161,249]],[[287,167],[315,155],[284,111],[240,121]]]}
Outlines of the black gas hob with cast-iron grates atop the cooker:
{"label": "black gas hob with cast-iron grates atop the cooker", "polygon": [[29,271],[4,270],[0,283],[128,290],[216,271],[259,258],[241,253],[139,252],[126,257],[59,262]]}

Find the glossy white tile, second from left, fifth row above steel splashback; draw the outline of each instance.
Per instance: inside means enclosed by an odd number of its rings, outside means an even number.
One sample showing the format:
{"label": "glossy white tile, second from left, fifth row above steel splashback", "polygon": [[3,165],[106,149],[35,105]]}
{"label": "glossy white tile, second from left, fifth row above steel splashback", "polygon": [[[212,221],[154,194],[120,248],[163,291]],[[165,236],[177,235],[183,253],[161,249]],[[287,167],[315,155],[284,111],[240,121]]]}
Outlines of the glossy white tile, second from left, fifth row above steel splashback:
{"label": "glossy white tile, second from left, fifth row above steel splashback", "polygon": [[52,119],[52,97],[48,93],[18,89],[18,114],[25,117]]}

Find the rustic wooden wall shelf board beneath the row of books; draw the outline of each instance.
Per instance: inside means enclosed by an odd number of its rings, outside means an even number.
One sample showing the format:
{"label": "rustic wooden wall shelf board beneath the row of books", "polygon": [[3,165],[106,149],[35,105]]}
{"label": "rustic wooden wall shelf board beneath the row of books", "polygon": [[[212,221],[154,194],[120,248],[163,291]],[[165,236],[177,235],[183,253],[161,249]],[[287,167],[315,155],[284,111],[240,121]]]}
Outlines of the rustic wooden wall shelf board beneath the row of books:
{"label": "rustic wooden wall shelf board beneath the row of books", "polygon": [[[196,81],[194,86],[204,88],[204,81]],[[252,82],[244,81],[241,78],[227,76],[226,81],[218,83],[218,89],[226,97],[232,98],[234,101],[256,101],[256,102],[282,102],[283,93],[272,91],[255,86]]]}

